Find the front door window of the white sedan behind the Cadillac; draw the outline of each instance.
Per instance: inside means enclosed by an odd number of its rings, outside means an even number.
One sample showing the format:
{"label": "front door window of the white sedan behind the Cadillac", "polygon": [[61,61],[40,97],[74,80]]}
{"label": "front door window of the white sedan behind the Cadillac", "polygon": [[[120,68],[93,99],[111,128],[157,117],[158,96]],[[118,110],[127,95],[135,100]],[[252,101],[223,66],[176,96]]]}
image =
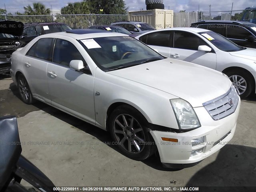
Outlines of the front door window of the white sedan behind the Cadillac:
{"label": "front door window of the white sedan behind the Cadillac", "polygon": [[198,50],[200,45],[209,46],[204,40],[192,33],[184,31],[174,32],[173,48]]}

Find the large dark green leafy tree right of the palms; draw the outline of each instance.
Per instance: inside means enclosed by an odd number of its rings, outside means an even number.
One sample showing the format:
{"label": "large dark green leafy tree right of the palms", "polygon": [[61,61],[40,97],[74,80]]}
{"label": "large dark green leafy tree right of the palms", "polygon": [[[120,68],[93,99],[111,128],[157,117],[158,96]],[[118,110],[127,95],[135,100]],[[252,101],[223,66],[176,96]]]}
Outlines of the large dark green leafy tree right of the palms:
{"label": "large dark green leafy tree right of the palms", "polygon": [[83,0],[89,4],[92,14],[127,14],[124,0]]}

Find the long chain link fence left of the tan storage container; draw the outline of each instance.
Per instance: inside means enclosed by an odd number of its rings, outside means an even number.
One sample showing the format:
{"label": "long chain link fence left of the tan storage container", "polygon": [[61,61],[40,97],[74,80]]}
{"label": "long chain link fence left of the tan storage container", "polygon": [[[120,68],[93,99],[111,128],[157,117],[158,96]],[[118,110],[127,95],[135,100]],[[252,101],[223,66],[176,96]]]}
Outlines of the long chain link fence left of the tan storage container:
{"label": "long chain link fence left of the tan storage container", "polygon": [[84,14],[84,15],[0,15],[0,19],[30,22],[61,22],[70,26],[72,29],[88,28],[92,25],[110,25],[116,21],[126,21],[127,15],[103,15],[103,14]]}

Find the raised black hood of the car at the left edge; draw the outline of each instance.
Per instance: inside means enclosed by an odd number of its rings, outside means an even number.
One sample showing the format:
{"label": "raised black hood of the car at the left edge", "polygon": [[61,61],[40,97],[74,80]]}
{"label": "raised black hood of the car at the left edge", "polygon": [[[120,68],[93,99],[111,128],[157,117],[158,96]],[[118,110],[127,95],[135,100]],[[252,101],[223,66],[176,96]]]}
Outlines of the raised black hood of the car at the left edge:
{"label": "raised black hood of the car at the left edge", "polygon": [[[24,24],[16,21],[0,21],[0,33],[22,36]],[[4,26],[4,27],[3,27]]]}

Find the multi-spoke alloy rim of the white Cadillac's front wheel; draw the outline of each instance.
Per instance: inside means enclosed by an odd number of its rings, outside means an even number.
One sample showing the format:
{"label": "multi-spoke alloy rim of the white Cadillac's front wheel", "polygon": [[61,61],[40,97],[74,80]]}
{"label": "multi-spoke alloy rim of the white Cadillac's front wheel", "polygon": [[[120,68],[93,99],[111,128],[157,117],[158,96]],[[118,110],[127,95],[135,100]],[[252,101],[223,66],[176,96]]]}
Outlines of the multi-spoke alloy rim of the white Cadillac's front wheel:
{"label": "multi-spoke alloy rim of the white Cadillac's front wheel", "polygon": [[131,154],[145,147],[145,134],[139,122],[129,114],[120,114],[114,120],[114,136],[118,144]]}

